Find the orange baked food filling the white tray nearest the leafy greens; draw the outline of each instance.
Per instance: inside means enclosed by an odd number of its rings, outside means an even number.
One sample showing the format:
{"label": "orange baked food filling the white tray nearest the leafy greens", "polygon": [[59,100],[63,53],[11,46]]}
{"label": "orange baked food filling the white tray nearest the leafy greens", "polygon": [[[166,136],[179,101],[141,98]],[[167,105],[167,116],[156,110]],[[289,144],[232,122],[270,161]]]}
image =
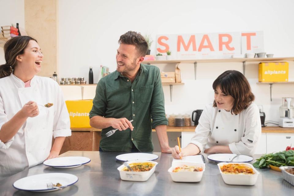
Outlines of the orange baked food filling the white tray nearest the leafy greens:
{"label": "orange baked food filling the white tray nearest the leafy greens", "polygon": [[220,170],[225,174],[255,174],[251,167],[244,164],[224,164]]}

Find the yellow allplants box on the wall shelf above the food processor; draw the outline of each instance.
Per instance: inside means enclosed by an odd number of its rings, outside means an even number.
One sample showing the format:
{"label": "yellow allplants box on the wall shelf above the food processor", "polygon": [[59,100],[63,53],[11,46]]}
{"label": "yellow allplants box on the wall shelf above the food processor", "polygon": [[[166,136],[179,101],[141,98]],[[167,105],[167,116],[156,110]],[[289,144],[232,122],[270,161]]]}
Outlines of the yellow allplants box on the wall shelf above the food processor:
{"label": "yellow allplants box on the wall shelf above the food processor", "polygon": [[259,82],[287,82],[288,62],[261,62],[258,64]]}

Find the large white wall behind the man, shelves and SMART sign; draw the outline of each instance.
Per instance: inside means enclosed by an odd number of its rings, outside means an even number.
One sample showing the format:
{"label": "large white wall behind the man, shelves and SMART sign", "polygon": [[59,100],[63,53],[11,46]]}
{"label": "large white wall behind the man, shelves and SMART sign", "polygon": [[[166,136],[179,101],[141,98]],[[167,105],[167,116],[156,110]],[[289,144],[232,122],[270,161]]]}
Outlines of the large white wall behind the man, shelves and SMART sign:
{"label": "large white wall behind the man, shelves and SMART sign", "polygon": [[[85,77],[93,66],[94,83],[98,82],[100,65],[116,68],[115,54],[119,36],[133,30],[151,34],[263,31],[264,48],[275,57],[294,56],[294,2],[291,0],[259,1],[95,1],[59,0],[59,76]],[[156,43],[151,54],[156,54]],[[169,86],[164,86],[166,113],[188,113],[202,109],[213,100],[212,82],[225,70],[242,71],[242,63],[198,63],[197,80],[194,65],[183,64],[185,85],[173,86],[170,102]],[[160,66],[162,71],[172,68]],[[290,80],[294,81],[294,65],[290,62]],[[262,104],[266,120],[279,118],[282,96],[294,97],[294,84],[273,85],[273,101],[269,85],[257,85],[258,66],[248,64],[246,77]]]}

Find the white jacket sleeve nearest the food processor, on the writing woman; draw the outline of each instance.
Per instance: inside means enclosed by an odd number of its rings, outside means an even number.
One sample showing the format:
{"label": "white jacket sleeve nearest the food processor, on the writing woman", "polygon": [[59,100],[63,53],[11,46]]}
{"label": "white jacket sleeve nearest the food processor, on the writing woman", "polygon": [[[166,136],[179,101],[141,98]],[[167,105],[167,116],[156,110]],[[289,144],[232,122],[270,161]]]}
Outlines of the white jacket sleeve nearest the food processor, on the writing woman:
{"label": "white jacket sleeve nearest the food processor, on the writing woman", "polygon": [[241,141],[229,144],[229,148],[234,154],[252,156],[261,136],[261,121],[258,107],[254,104],[249,106],[245,114],[246,124],[244,136]]}

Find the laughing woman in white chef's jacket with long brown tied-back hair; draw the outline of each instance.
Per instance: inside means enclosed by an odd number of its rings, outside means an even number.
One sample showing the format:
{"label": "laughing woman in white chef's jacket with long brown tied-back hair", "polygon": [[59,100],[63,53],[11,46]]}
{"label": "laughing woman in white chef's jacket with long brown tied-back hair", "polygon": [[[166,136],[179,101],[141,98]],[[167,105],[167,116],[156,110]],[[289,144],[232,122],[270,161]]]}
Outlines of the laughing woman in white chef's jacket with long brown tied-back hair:
{"label": "laughing woman in white chef's jacket with long brown tied-back hair", "polygon": [[[71,135],[58,83],[36,76],[43,61],[37,41],[14,37],[5,43],[4,54],[6,63],[0,66],[0,178],[57,157],[65,137]],[[45,107],[48,103],[53,106]]]}

